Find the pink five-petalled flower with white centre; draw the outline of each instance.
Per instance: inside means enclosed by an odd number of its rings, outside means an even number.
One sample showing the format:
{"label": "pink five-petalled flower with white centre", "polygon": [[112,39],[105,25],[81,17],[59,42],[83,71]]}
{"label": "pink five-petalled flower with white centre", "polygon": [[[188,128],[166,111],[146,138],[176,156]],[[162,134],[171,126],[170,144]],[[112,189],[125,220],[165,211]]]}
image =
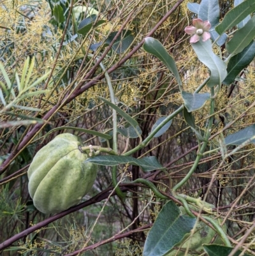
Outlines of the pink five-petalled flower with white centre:
{"label": "pink five-petalled flower with white centre", "polygon": [[208,20],[201,20],[201,19],[194,19],[192,21],[194,26],[187,26],[184,31],[187,34],[192,34],[191,40],[189,40],[190,43],[196,43],[197,41],[200,40],[200,36],[203,41],[207,41],[211,35],[208,32],[208,30],[211,27],[210,22]]}

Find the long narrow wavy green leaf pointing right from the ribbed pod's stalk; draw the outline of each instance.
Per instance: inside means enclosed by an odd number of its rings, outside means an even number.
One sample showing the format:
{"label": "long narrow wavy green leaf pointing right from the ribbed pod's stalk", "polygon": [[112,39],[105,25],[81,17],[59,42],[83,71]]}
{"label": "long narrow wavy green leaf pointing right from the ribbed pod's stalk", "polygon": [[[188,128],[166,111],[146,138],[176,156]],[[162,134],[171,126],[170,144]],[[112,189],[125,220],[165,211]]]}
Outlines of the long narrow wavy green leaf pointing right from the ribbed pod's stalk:
{"label": "long narrow wavy green leaf pointing right from the ribbed pod's stalk", "polygon": [[128,163],[129,165],[140,166],[145,172],[164,169],[164,167],[157,161],[156,156],[146,156],[140,159],[133,158],[132,156],[93,156],[85,160],[85,163],[88,162],[106,166]]}

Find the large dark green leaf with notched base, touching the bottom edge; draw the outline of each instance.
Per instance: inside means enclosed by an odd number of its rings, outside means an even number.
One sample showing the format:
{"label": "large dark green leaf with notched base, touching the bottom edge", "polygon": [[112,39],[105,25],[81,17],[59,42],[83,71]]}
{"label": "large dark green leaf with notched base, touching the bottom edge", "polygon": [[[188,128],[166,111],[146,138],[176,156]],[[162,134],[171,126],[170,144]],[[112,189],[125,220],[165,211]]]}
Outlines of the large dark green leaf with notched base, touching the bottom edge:
{"label": "large dark green leaf with notched base, touching the bottom edge", "polygon": [[149,231],[143,256],[166,255],[191,232],[195,222],[196,218],[181,215],[179,208],[172,201],[167,202]]}

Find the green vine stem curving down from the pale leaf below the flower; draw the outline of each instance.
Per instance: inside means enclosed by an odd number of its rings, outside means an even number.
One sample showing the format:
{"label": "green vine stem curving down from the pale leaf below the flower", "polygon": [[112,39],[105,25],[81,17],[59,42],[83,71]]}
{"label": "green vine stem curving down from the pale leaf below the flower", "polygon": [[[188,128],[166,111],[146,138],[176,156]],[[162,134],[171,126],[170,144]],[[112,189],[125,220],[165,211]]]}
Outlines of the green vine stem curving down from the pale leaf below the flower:
{"label": "green vine stem curving down from the pale leaf below the flower", "polygon": [[199,151],[199,153],[196,156],[196,160],[193,163],[193,166],[191,167],[191,169],[189,170],[189,172],[187,173],[187,175],[184,177],[184,179],[182,179],[179,183],[177,183],[174,187],[173,187],[173,192],[176,192],[181,186],[183,186],[188,180],[189,178],[192,176],[194,170],[196,170],[196,168],[198,167],[198,163],[200,162],[202,156],[203,156],[203,152],[205,151],[206,147],[207,147],[207,141],[210,137],[210,132],[212,129],[212,124],[214,121],[214,102],[215,102],[215,98],[214,98],[214,87],[211,87],[211,98],[210,98],[210,118],[208,121],[208,128],[207,128],[207,133],[205,135],[205,141],[203,142],[201,149]]}

